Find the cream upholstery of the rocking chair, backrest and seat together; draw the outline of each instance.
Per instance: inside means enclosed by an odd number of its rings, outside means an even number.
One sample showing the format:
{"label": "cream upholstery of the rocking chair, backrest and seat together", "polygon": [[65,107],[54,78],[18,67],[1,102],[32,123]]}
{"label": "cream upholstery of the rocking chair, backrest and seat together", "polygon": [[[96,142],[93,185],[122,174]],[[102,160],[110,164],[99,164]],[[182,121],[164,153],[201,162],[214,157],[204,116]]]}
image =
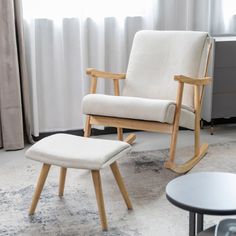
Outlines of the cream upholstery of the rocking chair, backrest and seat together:
{"label": "cream upholstery of the rocking chair, backrest and seat together", "polygon": [[[139,31],[130,54],[121,96],[90,94],[83,113],[172,124],[178,83],[174,75],[203,77],[209,37],[206,32]],[[194,88],[184,86],[180,126],[194,129]]]}

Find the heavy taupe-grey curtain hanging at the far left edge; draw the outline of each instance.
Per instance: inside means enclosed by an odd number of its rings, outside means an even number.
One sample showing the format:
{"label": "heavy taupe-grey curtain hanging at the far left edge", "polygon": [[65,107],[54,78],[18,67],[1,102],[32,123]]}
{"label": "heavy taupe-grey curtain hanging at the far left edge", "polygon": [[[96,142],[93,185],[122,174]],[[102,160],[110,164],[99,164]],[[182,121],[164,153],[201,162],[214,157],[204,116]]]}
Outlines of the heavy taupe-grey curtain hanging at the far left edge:
{"label": "heavy taupe-grey curtain hanging at the far left edge", "polygon": [[0,0],[0,147],[32,143],[21,0]]}

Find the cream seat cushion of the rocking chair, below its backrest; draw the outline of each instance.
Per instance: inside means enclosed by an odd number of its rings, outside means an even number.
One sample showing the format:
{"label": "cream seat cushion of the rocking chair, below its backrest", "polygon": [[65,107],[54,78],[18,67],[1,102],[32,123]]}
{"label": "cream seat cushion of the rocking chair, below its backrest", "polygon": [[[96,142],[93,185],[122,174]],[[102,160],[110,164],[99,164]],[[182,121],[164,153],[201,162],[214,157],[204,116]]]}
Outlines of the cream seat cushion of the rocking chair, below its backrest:
{"label": "cream seat cushion of the rocking chair, below its backrest", "polygon": [[[89,94],[83,98],[83,113],[173,124],[175,102],[139,97]],[[182,106],[180,126],[194,129],[194,112]]]}

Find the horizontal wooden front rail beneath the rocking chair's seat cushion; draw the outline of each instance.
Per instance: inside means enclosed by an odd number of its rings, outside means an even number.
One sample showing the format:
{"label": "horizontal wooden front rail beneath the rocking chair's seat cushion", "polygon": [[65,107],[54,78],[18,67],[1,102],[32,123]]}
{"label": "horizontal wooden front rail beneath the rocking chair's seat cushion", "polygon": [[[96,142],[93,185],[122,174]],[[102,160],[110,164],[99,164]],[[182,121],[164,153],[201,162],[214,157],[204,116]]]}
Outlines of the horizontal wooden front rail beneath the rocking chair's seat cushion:
{"label": "horizontal wooden front rail beneath the rocking chair's seat cushion", "polygon": [[151,132],[171,133],[173,125],[155,121],[133,120],[108,116],[90,115],[90,124],[145,130]]}

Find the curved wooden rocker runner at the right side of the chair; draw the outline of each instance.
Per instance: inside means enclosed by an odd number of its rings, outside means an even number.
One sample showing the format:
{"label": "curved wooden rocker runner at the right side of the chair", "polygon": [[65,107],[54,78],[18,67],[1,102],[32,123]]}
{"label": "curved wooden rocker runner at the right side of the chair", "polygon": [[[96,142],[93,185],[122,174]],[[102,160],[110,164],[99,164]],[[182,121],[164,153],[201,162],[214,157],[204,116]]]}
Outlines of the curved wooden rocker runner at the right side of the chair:
{"label": "curved wooden rocker runner at the right side of the chair", "polygon": [[207,149],[208,144],[204,143],[201,145],[199,154],[197,156],[194,156],[193,158],[181,165],[176,165],[174,162],[165,163],[165,167],[179,174],[186,173],[191,170],[205,156]]}

